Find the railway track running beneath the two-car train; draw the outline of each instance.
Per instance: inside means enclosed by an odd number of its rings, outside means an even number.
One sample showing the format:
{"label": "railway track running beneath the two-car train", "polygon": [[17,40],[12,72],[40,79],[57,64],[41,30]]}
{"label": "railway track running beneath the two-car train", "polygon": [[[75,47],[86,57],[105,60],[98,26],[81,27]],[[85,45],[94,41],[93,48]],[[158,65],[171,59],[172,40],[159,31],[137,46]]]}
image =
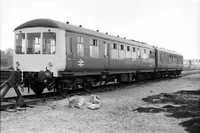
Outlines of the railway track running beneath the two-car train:
{"label": "railway track running beneath the two-car train", "polygon": [[[1,74],[2,74],[1,75],[1,83],[2,83],[3,81],[6,80],[6,78],[9,77],[10,72],[9,71],[4,71],[4,72],[1,71]],[[188,75],[188,74],[182,74],[181,76],[185,76],[185,75]],[[60,100],[60,99],[64,99],[64,98],[69,98],[69,97],[74,96],[74,95],[89,95],[91,93],[112,91],[112,90],[115,90],[115,89],[118,89],[118,88],[124,88],[124,87],[127,87],[127,86],[131,86],[131,87],[140,86],[140,85],[143,85],[147,82],[158,82],[158,81],[166,80],[166,79],[170,80],[171,78],[148,80],[148,81],[142,81],[142,82],[139,82],[139,83],[132,82],[132,83],[128,83],[128,84],[127,83],[126,84],[111,83],[111,84],[108,84],[106,86],[96,86],[90,92],[81,91],[80,89],[78,89],[78,90],[73,90],[73,91],[63,91],[62,93],[57,93],[57,92],[56,93],[55,92],[43,93],[40,97],[37,97],[34,94],[24,95],[23,96],[23,100],[24,100],[23,105],[16,105],[16,101],[19,100],[18,97],[16,97],[16,96],[5,97],[3,99],[3,101],[1,102],[0,110],[2,111],[2,110],[10,109],[10,108],[14,109],[17,106],[28,107],[32,104],[37,104],[39,102]]]}

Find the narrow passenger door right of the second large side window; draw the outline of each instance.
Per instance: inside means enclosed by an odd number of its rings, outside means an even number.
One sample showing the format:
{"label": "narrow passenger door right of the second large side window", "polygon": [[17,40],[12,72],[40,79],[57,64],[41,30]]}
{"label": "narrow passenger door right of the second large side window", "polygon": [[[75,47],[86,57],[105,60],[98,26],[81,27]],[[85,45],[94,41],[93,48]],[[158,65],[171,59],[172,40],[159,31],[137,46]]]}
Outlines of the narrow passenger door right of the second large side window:
{"label": "narrow passenger door right of the second large side window", "polygon": [[108,70],[110,67],[110,44],[104,43],[104,69]]}

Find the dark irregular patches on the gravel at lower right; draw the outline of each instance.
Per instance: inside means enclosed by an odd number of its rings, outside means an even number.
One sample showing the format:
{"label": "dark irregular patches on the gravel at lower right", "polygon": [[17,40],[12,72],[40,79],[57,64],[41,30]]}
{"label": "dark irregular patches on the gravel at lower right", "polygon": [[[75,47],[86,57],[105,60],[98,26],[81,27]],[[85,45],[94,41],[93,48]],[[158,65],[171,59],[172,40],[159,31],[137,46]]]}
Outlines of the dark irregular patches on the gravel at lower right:
{"label": "dark irregular patches on the gravel at lower right", "polygon": [[161,93],[142,99],[153,104],[164,104],[162,107],[139,107],[134,111],[143,113],[167,112],[168,117],[191,118],[180,123],[189,133],[200,133],[200,90]]}

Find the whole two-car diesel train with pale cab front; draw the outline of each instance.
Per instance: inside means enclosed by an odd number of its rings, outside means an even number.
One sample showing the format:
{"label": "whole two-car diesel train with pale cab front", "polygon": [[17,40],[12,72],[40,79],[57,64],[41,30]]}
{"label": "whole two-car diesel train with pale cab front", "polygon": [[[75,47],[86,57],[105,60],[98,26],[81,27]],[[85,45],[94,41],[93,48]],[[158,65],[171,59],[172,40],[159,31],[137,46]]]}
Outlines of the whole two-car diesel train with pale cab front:
{"label": "whole two-car diesel train with pale cab front", "polygon": [[88,89],[107,82],[178,76],[183,56],[51,19],[35,19],[14,30],[14,69],[37,95],[47,88]]}

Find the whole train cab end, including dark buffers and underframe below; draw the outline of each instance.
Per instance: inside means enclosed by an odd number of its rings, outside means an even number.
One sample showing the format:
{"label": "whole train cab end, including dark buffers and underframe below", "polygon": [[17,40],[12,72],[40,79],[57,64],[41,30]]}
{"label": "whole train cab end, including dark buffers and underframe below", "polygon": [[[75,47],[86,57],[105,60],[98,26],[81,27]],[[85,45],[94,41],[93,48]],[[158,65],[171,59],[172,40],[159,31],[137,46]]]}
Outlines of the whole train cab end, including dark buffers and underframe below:
{"label": "whole train cab end, including dark buffers and underframe below", "polygon": [[[14,69],[22,71],[24,87],[30,87],[36,95],[44,88],[54,88],[54,78],[65,69],[64,32],[51,27],[26,27],[15,30]],[[64,48],[63,48],[64,47]]]}

